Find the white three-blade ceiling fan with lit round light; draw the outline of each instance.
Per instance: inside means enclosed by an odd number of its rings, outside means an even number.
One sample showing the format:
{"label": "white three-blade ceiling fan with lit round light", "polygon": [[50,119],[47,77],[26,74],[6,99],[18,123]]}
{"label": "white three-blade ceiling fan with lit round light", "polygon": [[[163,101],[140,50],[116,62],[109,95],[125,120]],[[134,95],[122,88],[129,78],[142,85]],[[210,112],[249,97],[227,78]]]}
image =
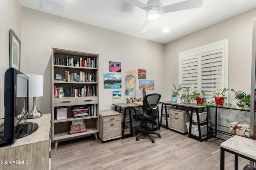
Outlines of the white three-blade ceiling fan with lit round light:
{"label": "white three-blade ceiling fan with lit round light", "polygon": [[148,0],[147,4],[143,4],[138,0],[124,0],[124,1],[146,11],[147,19],[140,32],[140,33],[146,33],[150,27],[151,22],[160,18],[161,14],[188,10],[192,8],[199,8],[199,7],[202,7],[204,0],[186,0],[184,2],[179,2],[176,4],[167,5],[167,6],[161,6],[161,0]]}

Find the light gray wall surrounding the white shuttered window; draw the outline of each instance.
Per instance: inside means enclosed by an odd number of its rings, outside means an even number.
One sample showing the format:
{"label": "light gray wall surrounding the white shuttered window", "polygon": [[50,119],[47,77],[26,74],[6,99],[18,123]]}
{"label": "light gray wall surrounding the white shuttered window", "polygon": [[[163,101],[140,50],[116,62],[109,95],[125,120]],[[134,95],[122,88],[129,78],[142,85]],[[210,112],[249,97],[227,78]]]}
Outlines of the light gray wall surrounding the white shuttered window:
{"label": "light gray wall surrounding the white shuttered window", "polygon": [[[214,43],[223,39],[229,40],[228,47],[228,82],[230,89],[250,94],[251,59],[252,59],[252,19],[256,17],[256,9],[222,21],[164,46],[164,95],[162,100],[170,100],[172,84],[178,84],[178,53]],[[238,100],[234,92],[229,90],[229,102],[233,105]],[[226,111],[224,111],[226,112]],[[239,118],[248,123],[249,113],[230,114],[219,117],[226,119],[224,124]]]}

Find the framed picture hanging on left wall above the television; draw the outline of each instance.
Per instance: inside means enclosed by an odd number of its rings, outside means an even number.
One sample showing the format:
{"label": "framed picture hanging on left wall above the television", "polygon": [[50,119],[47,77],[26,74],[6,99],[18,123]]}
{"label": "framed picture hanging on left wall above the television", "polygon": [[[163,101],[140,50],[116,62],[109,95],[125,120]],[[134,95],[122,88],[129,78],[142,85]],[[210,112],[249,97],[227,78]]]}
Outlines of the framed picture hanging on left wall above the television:
{"label": "framed picture hanging on left wall above the television", "polygon": [[9,67],[20,70],[20,39],[10,30]]}

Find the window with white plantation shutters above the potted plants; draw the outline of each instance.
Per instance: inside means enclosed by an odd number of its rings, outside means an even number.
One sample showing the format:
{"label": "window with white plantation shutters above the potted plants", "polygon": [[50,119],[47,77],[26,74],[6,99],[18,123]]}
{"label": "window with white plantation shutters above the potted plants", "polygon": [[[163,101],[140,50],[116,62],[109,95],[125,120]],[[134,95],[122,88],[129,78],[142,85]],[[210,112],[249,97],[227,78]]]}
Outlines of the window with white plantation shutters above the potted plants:
{"label": "window with white plantation shutters above the potted plants", "polygon": [[179,53],[181,83],[183,90],[203,90],[208,100],[212,100],[216,86],[228,88],[228,39]]}

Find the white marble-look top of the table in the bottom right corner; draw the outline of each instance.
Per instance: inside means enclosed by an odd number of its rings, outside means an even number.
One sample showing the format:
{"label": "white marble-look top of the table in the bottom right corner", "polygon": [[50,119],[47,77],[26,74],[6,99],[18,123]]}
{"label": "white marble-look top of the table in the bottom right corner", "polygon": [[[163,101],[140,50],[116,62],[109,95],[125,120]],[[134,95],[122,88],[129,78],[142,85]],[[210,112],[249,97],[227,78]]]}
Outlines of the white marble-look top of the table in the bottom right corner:
{"label": "white marble-look top of the table in the bottom right corner", "polygon": [[220,144],[220,147],[256,160],[256,141],[235,135]]}

